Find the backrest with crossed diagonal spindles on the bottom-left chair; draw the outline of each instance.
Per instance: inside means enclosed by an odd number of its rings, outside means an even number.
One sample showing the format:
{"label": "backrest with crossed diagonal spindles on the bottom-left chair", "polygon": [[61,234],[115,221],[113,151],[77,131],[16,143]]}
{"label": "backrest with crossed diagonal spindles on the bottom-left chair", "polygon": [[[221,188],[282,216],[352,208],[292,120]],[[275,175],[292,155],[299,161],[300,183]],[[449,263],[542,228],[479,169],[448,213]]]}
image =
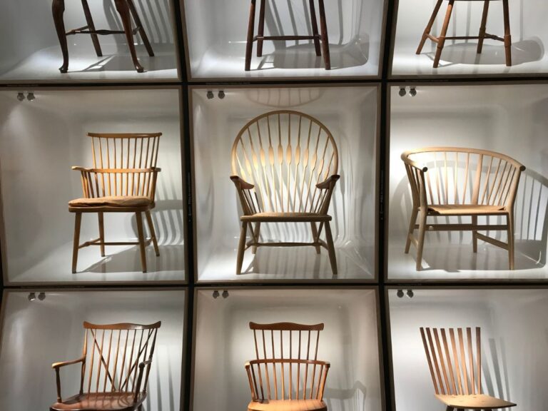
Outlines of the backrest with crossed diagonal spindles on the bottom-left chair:
{"label": "backrest with crossed diagonal spindles on the bottom-left chair", "polygon": [[151,364],[138,381],[139,364],[152,360],[160,326],[160,321],[148,325],[84,322],[86,362],[82,364],[80,392],[135,392],[139,383],[146,392]]}

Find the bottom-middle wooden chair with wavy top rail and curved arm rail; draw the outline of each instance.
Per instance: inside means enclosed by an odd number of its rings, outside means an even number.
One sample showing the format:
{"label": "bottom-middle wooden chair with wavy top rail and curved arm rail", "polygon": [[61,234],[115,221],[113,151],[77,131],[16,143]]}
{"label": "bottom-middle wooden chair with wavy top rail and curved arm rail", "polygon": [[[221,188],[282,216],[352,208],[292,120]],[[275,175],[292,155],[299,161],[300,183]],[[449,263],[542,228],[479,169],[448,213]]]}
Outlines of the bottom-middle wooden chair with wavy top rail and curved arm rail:
{"label": "bottom-middle wooden chair with wavy top rail and curved arm rail", "polygon": [[323,323],[249,323],[249,328],[256,360],[245,363],[251,390],[248,411],[327,411],[323,391],[330,363],[318,360]]}

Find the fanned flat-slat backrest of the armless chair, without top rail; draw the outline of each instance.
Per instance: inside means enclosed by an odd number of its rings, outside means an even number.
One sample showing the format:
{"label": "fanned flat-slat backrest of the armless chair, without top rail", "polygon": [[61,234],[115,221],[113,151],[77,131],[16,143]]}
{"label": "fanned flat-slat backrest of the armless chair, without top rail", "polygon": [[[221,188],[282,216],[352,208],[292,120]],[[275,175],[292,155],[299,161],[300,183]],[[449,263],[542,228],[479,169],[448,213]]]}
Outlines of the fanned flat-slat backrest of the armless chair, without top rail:
{"label": "fanned flat-slat backrest of the armless chair, without top rail", "polygon": [[420,328],[436,394],[481,394],[481,329],[479,327],[475,329],[475,344],[472,328],[447,330],[448,333],[445,328]]}

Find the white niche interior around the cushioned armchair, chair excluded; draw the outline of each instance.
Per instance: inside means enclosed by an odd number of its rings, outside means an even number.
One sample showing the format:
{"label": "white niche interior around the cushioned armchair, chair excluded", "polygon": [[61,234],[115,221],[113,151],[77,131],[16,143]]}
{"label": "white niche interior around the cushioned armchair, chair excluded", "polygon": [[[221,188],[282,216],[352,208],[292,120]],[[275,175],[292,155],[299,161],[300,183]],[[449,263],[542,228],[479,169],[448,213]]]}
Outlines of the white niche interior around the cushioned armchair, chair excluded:
{"label": "white niche interior around the cushioned armchair, chair excluded", "polygon": [[[184,281],[185,248],[181,113],[178,88],[40,90],[18,101],[0,93],[0,176],[4,284]],[[26,93],[24,93],[26,95]],[[146,248],[142,273],[138,246],[81,248],[71,272],[74,213],[83,197],[71,166],[91,167],[88,132],[161,132],[156,207],[151,211],[160,248]],[[106,241],[136,240],[135,213],[105,213]],[[95,213],[84,213],[80,241],[98,237]],[[146,230],[148,232],[148,230]]]}

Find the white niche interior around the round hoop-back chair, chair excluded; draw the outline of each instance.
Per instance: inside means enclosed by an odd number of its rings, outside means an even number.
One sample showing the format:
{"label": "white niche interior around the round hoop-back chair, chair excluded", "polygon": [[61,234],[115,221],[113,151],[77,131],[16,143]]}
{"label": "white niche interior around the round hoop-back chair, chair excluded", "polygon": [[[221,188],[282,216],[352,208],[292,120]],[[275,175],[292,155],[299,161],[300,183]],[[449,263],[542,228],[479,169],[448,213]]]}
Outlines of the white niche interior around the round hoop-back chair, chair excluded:
{"label": "white niche interior around the round hoop-back chair, chair excluded", "polygon": [[[214,91],[214,98],[207,97],[208,90]],[[196,87],[191,92],[198,282],[374,280],[377,87],[230,87],[223,91],[223,99],[216,97],[217,89]],[[280,109],[318,118],[338,146],[341,177],[329,210],[337,276],[327,250],[318,255],[313,247],[263,247],[255,255],[248,250],[242,273],[236,274],[241,210],[230,181],[231,147],[245,123]],[[312,234],[306,223],[263,223],[261,235],[268,241],[305,242]]]}

